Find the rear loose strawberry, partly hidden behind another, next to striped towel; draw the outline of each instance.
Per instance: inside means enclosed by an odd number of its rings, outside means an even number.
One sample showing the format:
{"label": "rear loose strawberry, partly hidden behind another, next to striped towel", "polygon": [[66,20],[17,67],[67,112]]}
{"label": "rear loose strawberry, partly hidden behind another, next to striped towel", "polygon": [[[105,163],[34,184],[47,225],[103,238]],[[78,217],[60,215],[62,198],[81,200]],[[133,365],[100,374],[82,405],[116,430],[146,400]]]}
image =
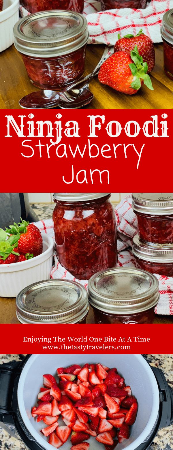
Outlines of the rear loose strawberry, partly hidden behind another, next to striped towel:
{"label": "rear loose strawberry, partly hidden behind another, next to striped towel", "polygon": [[136,36],[133,36],[133,34],[128,34],[120,38],[120,35],[118,35],[118,40],[115,43],[114,51],[123,51],[129,53],[130,55],[130,52],[134,49],[135,45],[138,47],[138,52],[140,56],[142,56],[143,62],[148,65],[147,73],[150,73],[155,67],[155,48],[150,37],[146,36],[142,32],[142,29]]}

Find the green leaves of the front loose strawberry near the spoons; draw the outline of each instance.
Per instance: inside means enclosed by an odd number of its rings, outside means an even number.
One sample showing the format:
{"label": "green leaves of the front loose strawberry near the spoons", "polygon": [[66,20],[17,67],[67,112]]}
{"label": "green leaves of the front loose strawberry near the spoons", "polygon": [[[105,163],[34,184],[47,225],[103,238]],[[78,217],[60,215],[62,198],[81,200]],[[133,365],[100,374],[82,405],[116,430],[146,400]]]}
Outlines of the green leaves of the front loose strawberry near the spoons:
{"label": "green leaves of the front loose strawberry near the spoons", "polygon": [[141,87],[140,79],[142,78],[144,84],[148,87],[148,89],[153,90],[151,78],[146,73],[148,70],[148,65],[146,62],[143,63],[143,58],[139,55],[137,45],[135,45],[134,49],[131,51],[130,56],[133,63],[130,63],[129,67],[132,75],[134,76],[131,87],[135,90],[139,90]]}

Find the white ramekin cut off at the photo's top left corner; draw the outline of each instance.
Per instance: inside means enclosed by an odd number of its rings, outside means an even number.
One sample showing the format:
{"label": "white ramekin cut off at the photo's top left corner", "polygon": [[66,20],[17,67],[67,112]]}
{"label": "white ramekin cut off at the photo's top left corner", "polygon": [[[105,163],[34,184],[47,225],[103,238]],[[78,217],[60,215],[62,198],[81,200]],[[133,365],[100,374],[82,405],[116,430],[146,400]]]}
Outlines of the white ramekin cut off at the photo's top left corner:
{"label": "white ramekin cut off at the photo's top left corner", "polygon": [[19,0],[4,0],[0,12],[0,52],[8,49],[14,42],[13,26],[19,19]]}

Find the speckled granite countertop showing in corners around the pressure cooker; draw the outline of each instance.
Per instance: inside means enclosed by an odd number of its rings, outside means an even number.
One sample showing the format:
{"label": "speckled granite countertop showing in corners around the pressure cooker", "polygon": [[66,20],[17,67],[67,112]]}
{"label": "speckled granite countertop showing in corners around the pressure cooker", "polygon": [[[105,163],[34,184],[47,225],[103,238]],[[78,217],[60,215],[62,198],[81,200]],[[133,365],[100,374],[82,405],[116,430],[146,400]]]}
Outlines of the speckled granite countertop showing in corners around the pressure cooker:
{"label": "speckled granite countertop showing in corners around the pressure cooker", "polygon": [[[173,355],[144,355],[146,360],[155,367],[163,370],[168,383],[173,387]],[[19,355],[0,355],[0,364],[9,361],[18,361]],[[6,431],[0,428],[0,450],[27,450],[21,439],[11,437]],[[173,427],[163,428],[155,437],[151,450],[172,450],[173,449]]]}

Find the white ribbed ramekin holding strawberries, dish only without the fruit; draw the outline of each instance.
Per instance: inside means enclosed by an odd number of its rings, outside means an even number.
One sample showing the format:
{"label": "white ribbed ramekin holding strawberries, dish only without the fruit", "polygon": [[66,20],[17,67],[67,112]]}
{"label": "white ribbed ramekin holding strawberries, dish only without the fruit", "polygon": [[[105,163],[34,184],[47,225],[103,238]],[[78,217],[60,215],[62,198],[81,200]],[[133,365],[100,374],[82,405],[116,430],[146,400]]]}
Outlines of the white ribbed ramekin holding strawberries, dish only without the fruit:
{"label": "white ribbed ramekin holding strawberries, dish only without the fruit", "polygon": [[0,297],[16,297],[29,284],[50,278],[53,238],[42,233],[43,253],[28,261],[0,265]]}

